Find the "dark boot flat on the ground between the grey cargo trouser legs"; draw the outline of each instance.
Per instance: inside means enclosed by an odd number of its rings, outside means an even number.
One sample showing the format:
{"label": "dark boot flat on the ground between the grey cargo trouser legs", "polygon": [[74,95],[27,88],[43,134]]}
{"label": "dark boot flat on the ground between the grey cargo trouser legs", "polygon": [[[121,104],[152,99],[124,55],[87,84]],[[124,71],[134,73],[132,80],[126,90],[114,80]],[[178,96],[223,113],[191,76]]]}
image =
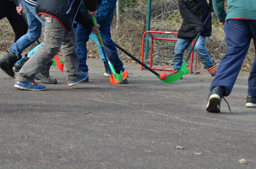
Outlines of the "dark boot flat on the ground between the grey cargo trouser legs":
{"label": "dark boot flat on the ground between the grey cargo trouser legs", "polygon": [[45,68],[36,75],[36,80],[41,80],[42,83],[47,83],[47,84],[56,84],[57,83],[57,79],[55,79],[54,77],[51,77],[49,75],[49,70],[50,67],[52,65],[52,61],[50,61]]}

